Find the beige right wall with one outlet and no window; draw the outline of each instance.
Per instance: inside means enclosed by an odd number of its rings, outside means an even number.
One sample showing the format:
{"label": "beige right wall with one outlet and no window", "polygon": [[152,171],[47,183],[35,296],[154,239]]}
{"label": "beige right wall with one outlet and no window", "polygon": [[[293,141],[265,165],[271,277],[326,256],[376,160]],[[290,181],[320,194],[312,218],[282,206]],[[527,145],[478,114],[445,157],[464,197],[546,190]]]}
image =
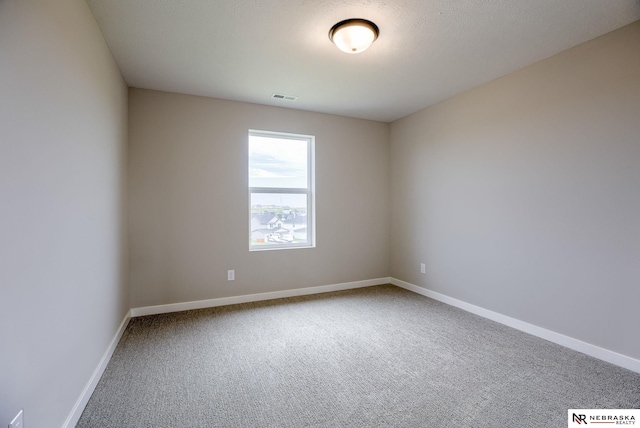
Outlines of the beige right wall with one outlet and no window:
{"label": "beige right wall with one outlet and no window", "polygon": [[636,22],[394,122],[392,276],[640,358],[639,49]]}

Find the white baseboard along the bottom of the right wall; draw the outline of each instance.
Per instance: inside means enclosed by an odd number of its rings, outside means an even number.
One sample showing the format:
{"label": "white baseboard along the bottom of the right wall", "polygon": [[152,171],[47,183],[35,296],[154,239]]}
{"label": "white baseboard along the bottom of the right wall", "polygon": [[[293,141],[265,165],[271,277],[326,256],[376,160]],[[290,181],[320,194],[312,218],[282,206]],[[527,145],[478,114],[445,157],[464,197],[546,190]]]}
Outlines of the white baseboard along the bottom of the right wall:
{"label": "white baseboard along the bottom of the right wall", "polygon": [[524,331],[525,333],[529,333],[550,342],[557,343],[558,345],[573,349],[574,351],[582,352],[583,354],[589,355],[591,357],[595,357],[608,363],[624,367],[625,369],[634,371],[636,373],[640,373],[640,360],[637,360],[635,358],[622,355],[617,352],[610,351],[608,349],[601,348],[599,346],[592,345],[578,339],[574,339],[573,337],[556,333],[555,331],[547,330],[545,328],[529,324],[516,318],[511,318],[509,316],[481,308],[480,306],[472,305],[462,300],[454,299],[453,297],[449,297],[444,294],[437,293],[435,291],[431,291],[429,289],[419,287],[417,285],[413,285],[396,278],[389,278],[389,282],[398,287],[413,291],[414,293],[430,297],[442,303],[446,303],[447,305],[455,306],[467,312],[471,312],[472,314],[480,315],[481,317],[499,322],[500,324],[513,327],[517,330]]}

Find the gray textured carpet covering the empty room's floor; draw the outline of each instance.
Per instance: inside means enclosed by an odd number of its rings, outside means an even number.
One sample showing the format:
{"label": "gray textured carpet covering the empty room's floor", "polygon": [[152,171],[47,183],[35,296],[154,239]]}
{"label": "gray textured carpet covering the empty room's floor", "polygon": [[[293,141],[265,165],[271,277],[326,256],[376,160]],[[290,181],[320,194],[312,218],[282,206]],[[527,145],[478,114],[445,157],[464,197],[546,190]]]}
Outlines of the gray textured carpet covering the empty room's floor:
{"label": "gray textured carpet covering the empty room's floor", "polygon": [[78,427],[566,427],[640,374],[394,286],[134,318]]}

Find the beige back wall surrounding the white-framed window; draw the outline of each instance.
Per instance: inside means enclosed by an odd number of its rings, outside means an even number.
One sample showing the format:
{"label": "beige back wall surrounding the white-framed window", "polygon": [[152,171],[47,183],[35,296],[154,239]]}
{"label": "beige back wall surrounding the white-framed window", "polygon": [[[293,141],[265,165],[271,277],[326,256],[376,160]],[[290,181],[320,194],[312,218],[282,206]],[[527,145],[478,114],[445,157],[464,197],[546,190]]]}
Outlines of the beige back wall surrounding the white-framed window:
{"label": "beige back wall surrounding the white-framed window", "polygon": [[[133,307],[388,276],[388,124],[140,89],[129,112]],[[249,129],[315,135],[316,248],[249,252]]]}

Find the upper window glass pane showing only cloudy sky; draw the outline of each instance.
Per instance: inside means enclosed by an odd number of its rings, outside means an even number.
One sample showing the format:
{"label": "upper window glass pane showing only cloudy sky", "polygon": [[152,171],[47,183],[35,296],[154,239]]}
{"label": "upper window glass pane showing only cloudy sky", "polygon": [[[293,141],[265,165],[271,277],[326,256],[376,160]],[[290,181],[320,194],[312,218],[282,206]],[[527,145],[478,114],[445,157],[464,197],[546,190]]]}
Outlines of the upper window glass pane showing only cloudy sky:
{"label": "upper window glass pane showing only cloudy sky", "polygon": [[249,187],[308,186],[306,139],[249,135]]}

